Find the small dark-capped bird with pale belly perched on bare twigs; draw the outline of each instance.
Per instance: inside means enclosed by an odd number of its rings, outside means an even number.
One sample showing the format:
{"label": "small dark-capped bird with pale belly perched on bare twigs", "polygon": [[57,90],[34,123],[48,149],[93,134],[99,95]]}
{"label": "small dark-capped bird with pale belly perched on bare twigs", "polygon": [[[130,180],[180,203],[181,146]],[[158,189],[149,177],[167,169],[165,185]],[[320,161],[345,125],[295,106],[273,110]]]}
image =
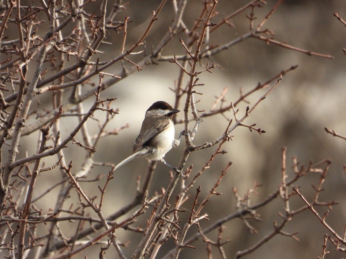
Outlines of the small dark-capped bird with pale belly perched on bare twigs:
{"label": "small dark-capped bird with pale belly perched on bare twigs", "polygon": [[180,172],[176,167],[166,163],[163,159],[165,154],[172,147],[180,144],[180,138],[184,134],[180,133],[179,139],[174,138],[174,123],[172,117],[180,112],[164,101],[153,103],[146,111],[142,128],[133,145],[133,154],[121,161],[114,170],[135,159],[144,157],[149,161],[161,161],[171,167],[176,172]]}

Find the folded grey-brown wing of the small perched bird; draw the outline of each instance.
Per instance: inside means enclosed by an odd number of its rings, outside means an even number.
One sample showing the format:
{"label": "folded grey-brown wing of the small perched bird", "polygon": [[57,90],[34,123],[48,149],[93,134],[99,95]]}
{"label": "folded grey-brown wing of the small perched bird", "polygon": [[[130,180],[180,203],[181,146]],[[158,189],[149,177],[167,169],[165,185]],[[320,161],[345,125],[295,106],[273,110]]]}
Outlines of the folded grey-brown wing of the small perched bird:
{"label": "folded grey-brown wing of the small perched bird", "polygon": [[[145,124],[145,120],[146,119],[144,119],[143,124]],[[152,140],[153,137],[165,130],[170,125],[170,121],[167,120],[166,116],[157,117],[154,120],[152,127],[150,127],[148,130],[143,129],[143,124],[139,135],[135,140],[135,144],[133,145],[133,152],[144,146],[146,143]]]}

